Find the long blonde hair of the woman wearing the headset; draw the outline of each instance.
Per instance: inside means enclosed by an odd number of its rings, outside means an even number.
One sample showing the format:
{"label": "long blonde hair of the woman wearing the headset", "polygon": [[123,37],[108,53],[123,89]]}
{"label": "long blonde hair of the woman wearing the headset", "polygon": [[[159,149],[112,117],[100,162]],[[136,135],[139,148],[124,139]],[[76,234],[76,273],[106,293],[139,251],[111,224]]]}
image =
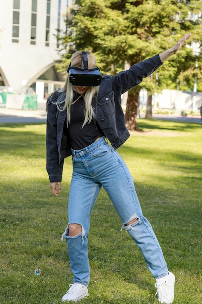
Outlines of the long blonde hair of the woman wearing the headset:
{"label": "long blonde hair of the woman wearing the headset", "polygon": [[[96,59],[90,51],[86,51],[88,57],[88,67],[96,67]],[[83,56],[81,51],[77,51],[72,55],[71,66],[83,68]],[[59,89],[61,91],[61,89]],[[85,124],[89,123],[93,117],[93,107],[92,100],[93,97],[98,93],[99,86],[89,86],[88,90],[85,92],[84,101],[85,101],[85,119],[82,125],[82,128]],[[69,73],[67,73],[67,78],[62,88],[63,94],[60,94],[56,105],[60,111],[64,111],[67,108],[67,126],[70,123],[70,108],[71,103],[74,98],[74,90],[72,84],[69,82]],[[65,101],[65,102],[64,102]],[[61,104],[64,102],[64,106],[61,108]]]}

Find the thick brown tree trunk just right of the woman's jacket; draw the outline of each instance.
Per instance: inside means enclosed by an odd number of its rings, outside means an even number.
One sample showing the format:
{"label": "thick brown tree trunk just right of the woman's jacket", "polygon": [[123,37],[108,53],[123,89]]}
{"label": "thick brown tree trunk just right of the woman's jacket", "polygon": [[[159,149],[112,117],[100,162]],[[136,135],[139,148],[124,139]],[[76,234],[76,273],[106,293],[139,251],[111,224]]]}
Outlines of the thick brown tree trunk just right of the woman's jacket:
{"label": "thick brown tree trunk just right of the woman's jacket", "polygon": [[129,131],[140,131],[136,121],[138,111],[139,91],[128,92],[127,107],[125,111],[125,123]]}

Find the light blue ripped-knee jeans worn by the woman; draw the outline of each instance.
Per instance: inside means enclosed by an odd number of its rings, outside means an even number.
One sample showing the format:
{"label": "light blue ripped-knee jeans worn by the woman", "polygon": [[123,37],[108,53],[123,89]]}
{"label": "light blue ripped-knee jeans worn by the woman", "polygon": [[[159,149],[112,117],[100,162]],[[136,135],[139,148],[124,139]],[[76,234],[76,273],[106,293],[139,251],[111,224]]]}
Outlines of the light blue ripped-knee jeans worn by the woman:
{"label": "light blue ripped-knee jeans worn by the woman", "polygon": [[[81,225],[78,236],[68,236],[68,226],[62,235],[67,241],[74,283],[88,285],[88,233],[94,203],[103,186],[109,195],[123,227],[139,246],[144,260],[156,278],[168,274],[166,262],[149,221],[143,216],[133,178],[117,151],[102,137],[92,145],[72,150],[73,175],[69,193],[69,224]],[[126,225],[129,221],[135,223]]]}

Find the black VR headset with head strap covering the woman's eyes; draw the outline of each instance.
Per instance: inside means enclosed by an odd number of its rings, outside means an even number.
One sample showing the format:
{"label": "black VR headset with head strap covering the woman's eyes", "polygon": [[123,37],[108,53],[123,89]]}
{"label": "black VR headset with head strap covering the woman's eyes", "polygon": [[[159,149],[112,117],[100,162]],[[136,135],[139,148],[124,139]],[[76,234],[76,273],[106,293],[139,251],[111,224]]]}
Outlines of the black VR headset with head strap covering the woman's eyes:
{"label": "black VR headset with head strap covering the woman's eyes", "polygon": [[80,86],[97,86],[100,85],[102,75],[99,68],[88,68],[88,57],[85,51],[82,51],[84,68],[71,67],[67,69],[69,73],[69,82],[73,85]]}

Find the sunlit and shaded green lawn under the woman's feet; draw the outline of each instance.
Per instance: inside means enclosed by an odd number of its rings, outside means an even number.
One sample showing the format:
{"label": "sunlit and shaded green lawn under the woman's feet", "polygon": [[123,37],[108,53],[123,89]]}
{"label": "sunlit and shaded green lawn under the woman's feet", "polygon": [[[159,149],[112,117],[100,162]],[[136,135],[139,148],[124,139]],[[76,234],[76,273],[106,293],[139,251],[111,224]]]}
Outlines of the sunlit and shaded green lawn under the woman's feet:
{"label": "sunlit and shaded green lawn under the woman's feet", "polygon": [[[169,269],[174,304],[202,303],[202,125],[138,120],[118,150]],[[46,172],[46,125],[0,124],[0,304],[58,304],[72,283],[66,242],[71,158],[55,198]],[[91,281],[81,304],[157,304],[155,280],[104,190],[89,235]],[[41,276],[34,275],[40,268]]]}

